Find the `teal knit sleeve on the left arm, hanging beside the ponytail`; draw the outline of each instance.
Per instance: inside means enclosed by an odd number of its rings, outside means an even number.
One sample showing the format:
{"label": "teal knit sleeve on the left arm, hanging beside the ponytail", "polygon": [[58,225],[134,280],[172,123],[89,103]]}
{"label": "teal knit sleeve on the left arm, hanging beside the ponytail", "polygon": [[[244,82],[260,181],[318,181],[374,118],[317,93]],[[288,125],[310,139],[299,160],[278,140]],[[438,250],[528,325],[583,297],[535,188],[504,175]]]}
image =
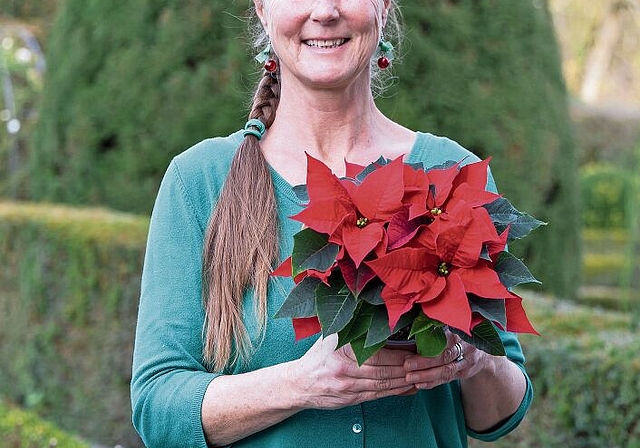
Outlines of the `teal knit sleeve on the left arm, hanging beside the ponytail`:
{"label": "teal knit sleeve on the left arm, hanging beside the ponytail", "polygon": [[175,160],[151,217],[133,355],[133,424],[147,447],[206,448],[202,362],[204,230]]}

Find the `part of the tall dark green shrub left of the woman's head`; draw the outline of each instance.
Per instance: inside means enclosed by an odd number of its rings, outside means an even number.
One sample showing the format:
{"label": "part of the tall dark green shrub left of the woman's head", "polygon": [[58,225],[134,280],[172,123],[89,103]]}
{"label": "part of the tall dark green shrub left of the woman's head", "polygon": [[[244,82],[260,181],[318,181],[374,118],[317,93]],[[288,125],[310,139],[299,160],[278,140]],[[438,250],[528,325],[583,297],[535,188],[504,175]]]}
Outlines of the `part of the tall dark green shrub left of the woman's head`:
{"label": "part of the tall dark green shrub left of the woman's head", "polygon": [[48,41],[33,197],[148,213],[177,152],[244,124],[255,65],[237,16],[248,5],[63,2]]}

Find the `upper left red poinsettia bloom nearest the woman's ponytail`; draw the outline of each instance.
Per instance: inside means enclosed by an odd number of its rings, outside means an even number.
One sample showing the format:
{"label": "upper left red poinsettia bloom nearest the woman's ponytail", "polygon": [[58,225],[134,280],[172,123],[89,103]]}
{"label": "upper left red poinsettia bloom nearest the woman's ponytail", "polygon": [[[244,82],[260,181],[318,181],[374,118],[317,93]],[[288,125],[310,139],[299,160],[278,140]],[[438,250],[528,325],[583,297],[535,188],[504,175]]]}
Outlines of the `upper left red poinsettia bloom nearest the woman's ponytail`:
{"label": "upper left red poinsettia bloom nearest the woman's ponytail", "polygon": [[402,208],[402,172],[398,158],[358,184],[338,179],[322,162],[307,155],[309,203],[292,218],[329,235],[329,242],[343,246],[358,268],[384,241],[384,225]]}

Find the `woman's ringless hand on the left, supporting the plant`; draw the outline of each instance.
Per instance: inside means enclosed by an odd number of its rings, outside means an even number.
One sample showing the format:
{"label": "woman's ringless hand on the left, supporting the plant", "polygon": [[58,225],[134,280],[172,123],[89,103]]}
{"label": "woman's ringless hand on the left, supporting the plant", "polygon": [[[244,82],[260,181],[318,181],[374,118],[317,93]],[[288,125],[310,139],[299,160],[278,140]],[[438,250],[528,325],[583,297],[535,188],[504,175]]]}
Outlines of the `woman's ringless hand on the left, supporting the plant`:
{"label": "woman's ringless hand on the left, supporting the plant", "polygon": [[405,380],[405,357],[411,352],[381,349],[358,366],[350,345],[336,350],[337,335],[320,338],[298,360],[296,383],[303,407],[338,409],[377,398],[415,392]]}

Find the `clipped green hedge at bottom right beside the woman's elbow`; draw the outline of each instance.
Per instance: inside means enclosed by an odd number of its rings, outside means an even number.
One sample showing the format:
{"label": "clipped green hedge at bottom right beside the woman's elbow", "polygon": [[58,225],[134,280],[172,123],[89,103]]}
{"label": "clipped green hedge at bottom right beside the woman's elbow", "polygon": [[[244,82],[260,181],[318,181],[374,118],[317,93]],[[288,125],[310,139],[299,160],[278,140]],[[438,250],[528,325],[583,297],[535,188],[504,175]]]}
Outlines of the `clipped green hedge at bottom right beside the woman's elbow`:
{"label": "clipped green hedge at bottom right beside the woman's elbow", "polygon": [[521,427],[491,446],[640,446],[640,339],[630,316],[557,300],[525,305],[542,333],[521,338],[535,398]]}

